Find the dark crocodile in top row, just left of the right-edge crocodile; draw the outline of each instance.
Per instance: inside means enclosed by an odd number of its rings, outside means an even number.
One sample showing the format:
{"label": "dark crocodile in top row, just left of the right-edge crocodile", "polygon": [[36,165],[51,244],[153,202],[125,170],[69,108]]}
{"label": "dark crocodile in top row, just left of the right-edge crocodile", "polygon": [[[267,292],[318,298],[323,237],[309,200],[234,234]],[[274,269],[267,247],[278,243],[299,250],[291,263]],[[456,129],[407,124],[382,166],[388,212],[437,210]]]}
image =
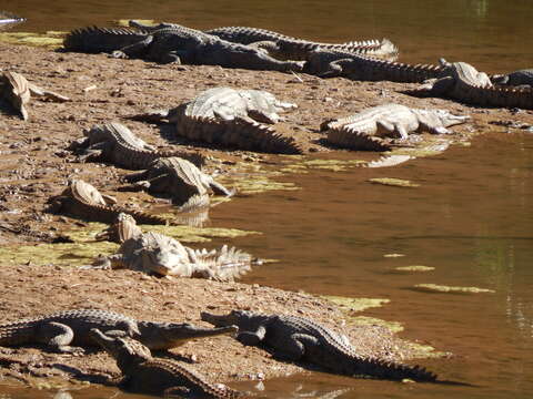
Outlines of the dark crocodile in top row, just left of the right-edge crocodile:
{"label": "dark crocodile in top row, just left of the right-edge crocodile", "polygon": [[445,65],[408,64],[363,57],[348,51],[318,49],[308,53],[303,72],[321,78],[420,83],[446,74]]}

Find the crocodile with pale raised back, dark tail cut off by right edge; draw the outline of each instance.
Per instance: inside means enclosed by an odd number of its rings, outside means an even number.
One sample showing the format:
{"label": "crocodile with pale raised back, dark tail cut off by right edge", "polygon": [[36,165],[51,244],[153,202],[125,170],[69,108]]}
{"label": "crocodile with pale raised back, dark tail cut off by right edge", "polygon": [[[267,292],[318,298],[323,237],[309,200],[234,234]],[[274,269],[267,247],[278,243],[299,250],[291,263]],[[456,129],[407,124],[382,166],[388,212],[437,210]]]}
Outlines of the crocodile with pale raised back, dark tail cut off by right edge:
{"label": "crocodile with pale raised back, dark tail cut off by right edge", "polygon": [[480,106],[520,108],[533,110],[533,89],[494,85],[489,75],[466,62],[440,60],[447,74],[404,93],[416,96],[445,96]]}

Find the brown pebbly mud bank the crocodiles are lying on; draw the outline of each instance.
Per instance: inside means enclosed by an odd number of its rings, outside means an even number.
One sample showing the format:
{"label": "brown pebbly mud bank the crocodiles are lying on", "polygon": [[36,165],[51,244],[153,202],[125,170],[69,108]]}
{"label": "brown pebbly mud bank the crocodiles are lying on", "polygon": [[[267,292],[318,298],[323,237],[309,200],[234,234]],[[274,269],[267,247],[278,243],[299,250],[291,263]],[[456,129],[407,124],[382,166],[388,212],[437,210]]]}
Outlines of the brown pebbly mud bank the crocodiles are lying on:
{"label": "brown pebbly mud bank the crocodiles are lying on", "polygon": [[[24,45],[0,44],[0,51],[3,54],[0,61],[3,71],[22,73],[30,82],[72,100],[54,103],[33,99],[28,108],[28,122],[9,113],[0,119],[0,243],[3,246],[0,257],[0,316],[4,321],[60,309],[94,307],[139,319],[201,324],[198,321],[200,310],[225,313],[242,308],[313,318],[341,329],[352,341],[358,338],[356,347],[362,354],[402,361],[422,357],[424,354],[421,350],[388,329],[372,325],[354,326],[350,317],[353,313],[346,314],[333,303],[305,293],[239,283],[161,279],[130,270],[80,270],[73,267],[76,262],[39,262],[36,258],[13,260],[12,250],[89,227],[83,221],[43,212],[49,197],[59,194],[72,177],[93,184],[104,194],[118,196],[123,204],[150,209],[161,203],[141,193],[117,193],[117,187],[122,184],[120,177],[130,171],[112,165],[73,162],[74,157],[66,147],[82,136],[83,129],[95,123],[121,121],[159,149],[171,149],[175,144],[200,147],[202,153],[209,155],[208,170],[217,171],[230,187],[242,183],[242,170],[272,174],[281,168],[289,170],[288,164],[320,158],[321,153],[336,151],[323,144],[319,126],[324,119],[348,115],[388,102],[416,108],[443,108],[453,113],[470,114],[472,122],[453,127],[454,134],[446,137],[452,144],[467,145],[474,134],[489,131],[505,134],[514,130],[489,122],[533,124],[531,111],[479,109],[442,99],[416,99],[400,93],[401,90],[414,88],[414,84],[321,80],[303,74],[294,76],[218,66],[159,65],[141,60],[60,53]],[[148,109],[175,106],[202,90],[219,85],[268,90],[283,101],[296,103],[299,108],[284,113],[285,121],[278,129],[294,135],[306,154],[274,156],[199,146],[199,143],[177,140],[171,125],[124,119]],[[353,154],[354,160],[376,157],[371,153]],[[298,172],[298,167],[293,172]],[[260,188],[248,195],[261,195]],[[228,244],[231,244],[230,238]],[[208,246],[203,243],[199,245]],[[261,349],[242,347],[230,337],[190,342],[174,349],[172,356],[187,359],[194,369],[218,381],[305,372],[299,366],[272,359]],[[94,376],[103,376],[103,381],[117,371],[114,361],[102,352],[90,352],[80,358],[43,352],[37,347],[0,348],[0,377],[27,383],[32,383],[34,377],[43,377],[57,380],[59,386],[83,380],[99,382]]]}

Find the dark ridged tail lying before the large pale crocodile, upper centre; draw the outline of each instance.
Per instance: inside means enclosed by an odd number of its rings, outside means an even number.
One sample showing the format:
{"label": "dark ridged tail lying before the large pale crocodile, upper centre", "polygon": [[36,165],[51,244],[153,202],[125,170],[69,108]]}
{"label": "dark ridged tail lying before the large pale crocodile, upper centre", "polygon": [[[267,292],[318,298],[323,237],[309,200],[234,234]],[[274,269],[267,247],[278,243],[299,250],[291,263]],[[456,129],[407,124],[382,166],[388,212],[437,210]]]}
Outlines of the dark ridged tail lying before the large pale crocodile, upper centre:
{"label": "dark ridged tail lying before the large pale crocodile, upper centre", "polygon": [[234,146],[241,150],[274,154],[301,154],[303,150],[293,137],[284,136],[270,126],[252,120],[215,120],[204,116],[183,116],[178,134],[191,140]]}

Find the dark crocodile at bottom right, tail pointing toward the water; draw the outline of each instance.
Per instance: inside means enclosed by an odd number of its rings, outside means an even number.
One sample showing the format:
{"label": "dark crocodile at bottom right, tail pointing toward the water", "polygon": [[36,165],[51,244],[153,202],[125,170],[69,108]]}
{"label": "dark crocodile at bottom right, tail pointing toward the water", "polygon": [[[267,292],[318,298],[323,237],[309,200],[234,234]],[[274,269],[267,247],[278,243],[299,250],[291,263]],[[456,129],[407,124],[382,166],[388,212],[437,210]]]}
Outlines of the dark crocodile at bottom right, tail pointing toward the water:
{"label": "dark crocodile at bottom right, tail pointing toward the water", "polygon": [[272,350],[290,361],[306,361],[348,376],[371,376],[382,379],[435,381],[436,376],[422,367],[385,361],[356,354],[348,337],[310,319],[288,315],[262,315],[232,310],[228,315],[201,313],[201,318],[217,327],[239,327],[237,339],[243,345]]}

